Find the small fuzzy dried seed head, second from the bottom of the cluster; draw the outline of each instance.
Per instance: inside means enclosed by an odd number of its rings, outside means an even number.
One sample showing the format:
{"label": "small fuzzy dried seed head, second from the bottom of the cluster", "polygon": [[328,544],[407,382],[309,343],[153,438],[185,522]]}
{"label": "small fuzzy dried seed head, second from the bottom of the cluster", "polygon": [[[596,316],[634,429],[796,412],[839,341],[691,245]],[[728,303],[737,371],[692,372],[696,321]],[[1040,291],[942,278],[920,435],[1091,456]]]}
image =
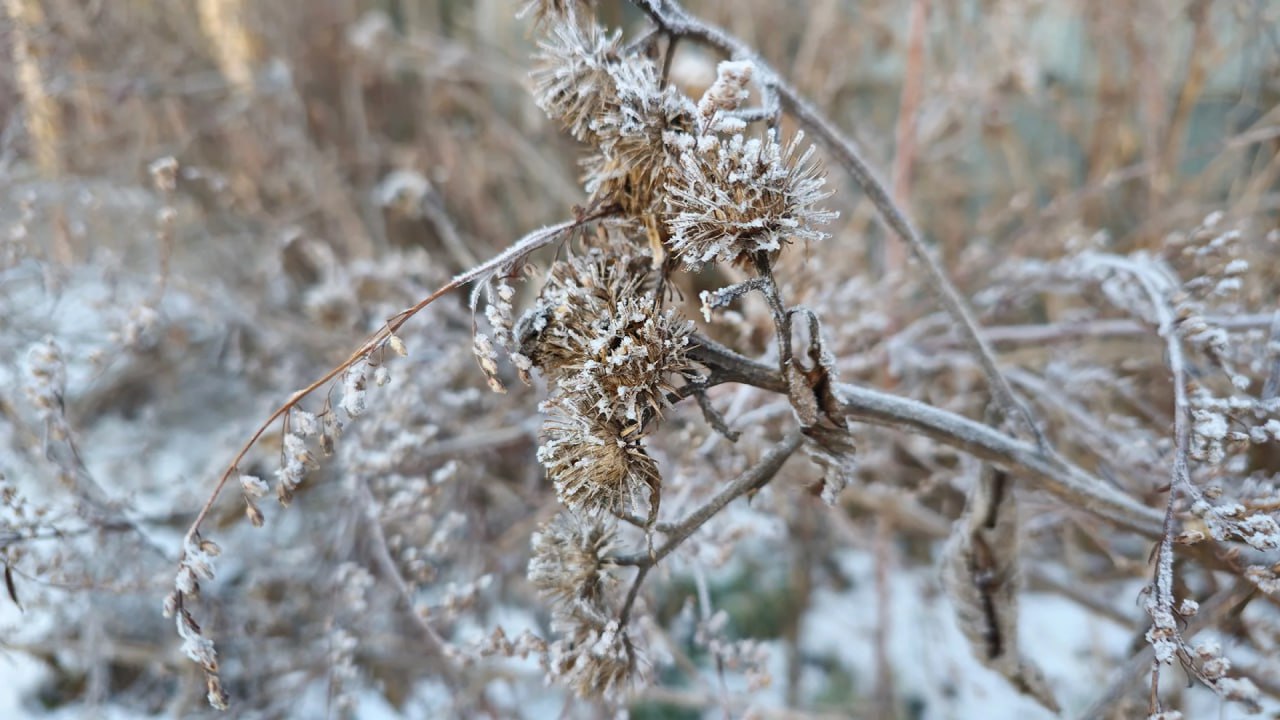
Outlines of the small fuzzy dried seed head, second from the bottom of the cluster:
{"label": "small fuzzy dried seed head, second from the bottom of the cluster", "polygon": [[553,602],[557,615],[603,616],[613,580],[605,556],[616,539],[614,528],[602,519],[561,512],[534,533],[529,582]]}

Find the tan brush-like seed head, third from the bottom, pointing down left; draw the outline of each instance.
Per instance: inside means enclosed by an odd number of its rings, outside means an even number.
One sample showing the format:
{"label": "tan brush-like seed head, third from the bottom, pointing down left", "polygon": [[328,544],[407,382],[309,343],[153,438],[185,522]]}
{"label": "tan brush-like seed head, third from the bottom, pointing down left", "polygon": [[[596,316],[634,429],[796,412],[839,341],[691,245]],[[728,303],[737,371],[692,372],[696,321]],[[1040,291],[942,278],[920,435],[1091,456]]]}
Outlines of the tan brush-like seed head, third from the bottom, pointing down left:
{"label": "tan brush-like seed head, third from the bottom, pointing down left", "polygon": [[589,515],[628,512],[644,507],[648,493],[649,516],[657,516],[662,477],[637,430],[582,407],[571,395],[548,400],[544,410],[538,460],[561,502]]}

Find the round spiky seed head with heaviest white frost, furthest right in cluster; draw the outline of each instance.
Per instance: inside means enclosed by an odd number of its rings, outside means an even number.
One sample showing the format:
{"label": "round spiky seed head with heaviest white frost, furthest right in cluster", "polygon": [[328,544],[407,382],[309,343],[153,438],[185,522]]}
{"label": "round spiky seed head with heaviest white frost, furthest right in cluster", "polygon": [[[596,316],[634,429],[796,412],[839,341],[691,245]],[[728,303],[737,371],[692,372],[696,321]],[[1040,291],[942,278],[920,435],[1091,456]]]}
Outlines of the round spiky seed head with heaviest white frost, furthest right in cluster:
{"label": "round spiky seed head with heaviest white frost, furthest right in cluster", "polygon": [[826,238],[815,225],[837,215],[818,208],[831,192],[823,190],[814,147],[800,151],[803,137],[797,133],[783,147],[773,132],[763,140],[686,136],[680,172],[667,188],[672,254],[699,268],[773,252],[795,240]]}

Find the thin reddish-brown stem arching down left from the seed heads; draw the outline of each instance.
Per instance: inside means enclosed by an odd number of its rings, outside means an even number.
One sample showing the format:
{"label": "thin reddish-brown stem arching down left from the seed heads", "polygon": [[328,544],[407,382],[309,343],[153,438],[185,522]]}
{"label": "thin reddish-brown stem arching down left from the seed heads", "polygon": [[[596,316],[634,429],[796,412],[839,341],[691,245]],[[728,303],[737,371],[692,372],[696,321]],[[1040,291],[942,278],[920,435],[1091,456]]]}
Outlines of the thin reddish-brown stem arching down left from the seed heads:
{"label": "thin reddish-brown stem arching down left from the seed heads", "polygon": [[276,420],[282,419],[289,410],[293,409],[293,406],[296,406],[300,401],[302,401],[302,398],[307,397],[312,392],[326,386],[333,379],[338,378],[348,368],[358,363],[362,357],[376,350],[381,343],[387,342],[392,336],[394,336],[396,332],[401,327],[403,327],[404,323],[410,320],[410,318],[419,314],[422,309],[425,309],[431,302],[435,302],[444,295],[448,295],[449,292],[453,292],[454,290],[458,290],[460,287],[463,287],[470,282],[488,277],[489,274],[499,269],[513,265],[530,252],[540,247],[545,247],[547,245],[550,245],[557,238],[559,238],[561,234],[563,234],[564,232],[582,227],[595,220],[604,219],[609,215],[612,215],[612,210],[600,210],[596,213],[585,214],[581,218],[573,220],[566,220],[556,225],[549,225],[534,231],[527,236],[525,236],[524,238],[521,238],[515,245],[512,245],[511,247],[508,247],[507,250],[504,250],[497,258],[493,258],[492,260],[481,265],[476,265],[475,268],[460,275],[456,275],[452,281],[440,287],[440,290],[436,290],[431,295],[420,300],[412,307],[402,310],[399,314],[387,320],[387,324],[380,331],[370,336],[369,340],[366,340],[355,352],[352,352],[349,357],[343,360],[340,364],[335,365],[333,369],[330,369],[328,373],[325,373],[314,383],[308,384],[307,387],[289,396],[289,398],[283,405],[276,407],[275,411],[271,413],[271,415],[268,416],[268,419],[262,421],[262,424],[259,425],[256,430],[253,430],[253,434],[250,436],[248,441],[243,446],[241,446],[234,459],[232,459],[232,462],[227,466],[225,470],[223,470],[223,474],[218,479],[218,484],[214,486],[214,491],[210,493],[209,500],[205,501],[205,505],[200,509],[200,512],[196,515],[196,519],[191,523],[191,527],[187,529],[187,536],[186,536],[187,541],[191,542],[196,538],[197,533],[200,532],[200,525],[205,521],[205,518],[209,516],[209,512],[214,507],[214,502],[218,501],[218,496],[221,495],[223,488],[227,487],[227,482],[230,479],[230,477],[236,474],[241,461],[243,461],[244,456],[248,455],[248,451],[252,450],[252,447],[257,443],[257,441],[266,433],[266,430],[273,424],[275,424]]}

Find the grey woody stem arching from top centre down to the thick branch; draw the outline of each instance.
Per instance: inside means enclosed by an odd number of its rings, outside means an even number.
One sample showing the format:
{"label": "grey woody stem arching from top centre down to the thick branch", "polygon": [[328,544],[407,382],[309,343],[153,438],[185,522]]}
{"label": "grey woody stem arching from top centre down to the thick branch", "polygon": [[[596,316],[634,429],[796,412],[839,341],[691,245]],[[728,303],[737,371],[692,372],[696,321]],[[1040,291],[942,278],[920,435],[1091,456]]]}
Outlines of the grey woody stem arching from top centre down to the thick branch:
{"label": "grey woody stem arching from top centre down to the thick branch", "polygon": [[899,205],[893,202],[893,199],[890,197],[884,183],[881,182],[872,167],[863,159],[854,141],[841,135],[831,120],[819,113],[813,104],[765,63],[754,49],[741,40],[728,35],[719,27],[692,17],[675,0],[632,0],[632,3],[648,14],[658,27],[673,37],[694,38],[731,58],[751,60],[756,67],[759,83],[769,88],[769,91],[776,92],[782,109],[788,111],[822,140],[823,145],[836,156],[845,170],[854,178],[854,182],[861,188],[863,193],[867,195],[867,199],[876,206],[884,224],[910,246],[911,252],[924,266],[929,277],[929,287],[934,290],[942,306],[960,325],[965,342],[982,365],[987,375],[987,382],[991,384],[992,396],[996,398],[1005,416],[1009,419],[1018,418],[1030,437],[1036,439],[1037,446],[1047,451],[1050,447],[1048,439],[1036,424],[1030,410],[1018,398],[1009,380],[1000,372],[995,354],[979,333],[978,322],[974,319],[964,297],[951,283],[950,278],[947,278],[942,265],[933,258],[920,233]]}

